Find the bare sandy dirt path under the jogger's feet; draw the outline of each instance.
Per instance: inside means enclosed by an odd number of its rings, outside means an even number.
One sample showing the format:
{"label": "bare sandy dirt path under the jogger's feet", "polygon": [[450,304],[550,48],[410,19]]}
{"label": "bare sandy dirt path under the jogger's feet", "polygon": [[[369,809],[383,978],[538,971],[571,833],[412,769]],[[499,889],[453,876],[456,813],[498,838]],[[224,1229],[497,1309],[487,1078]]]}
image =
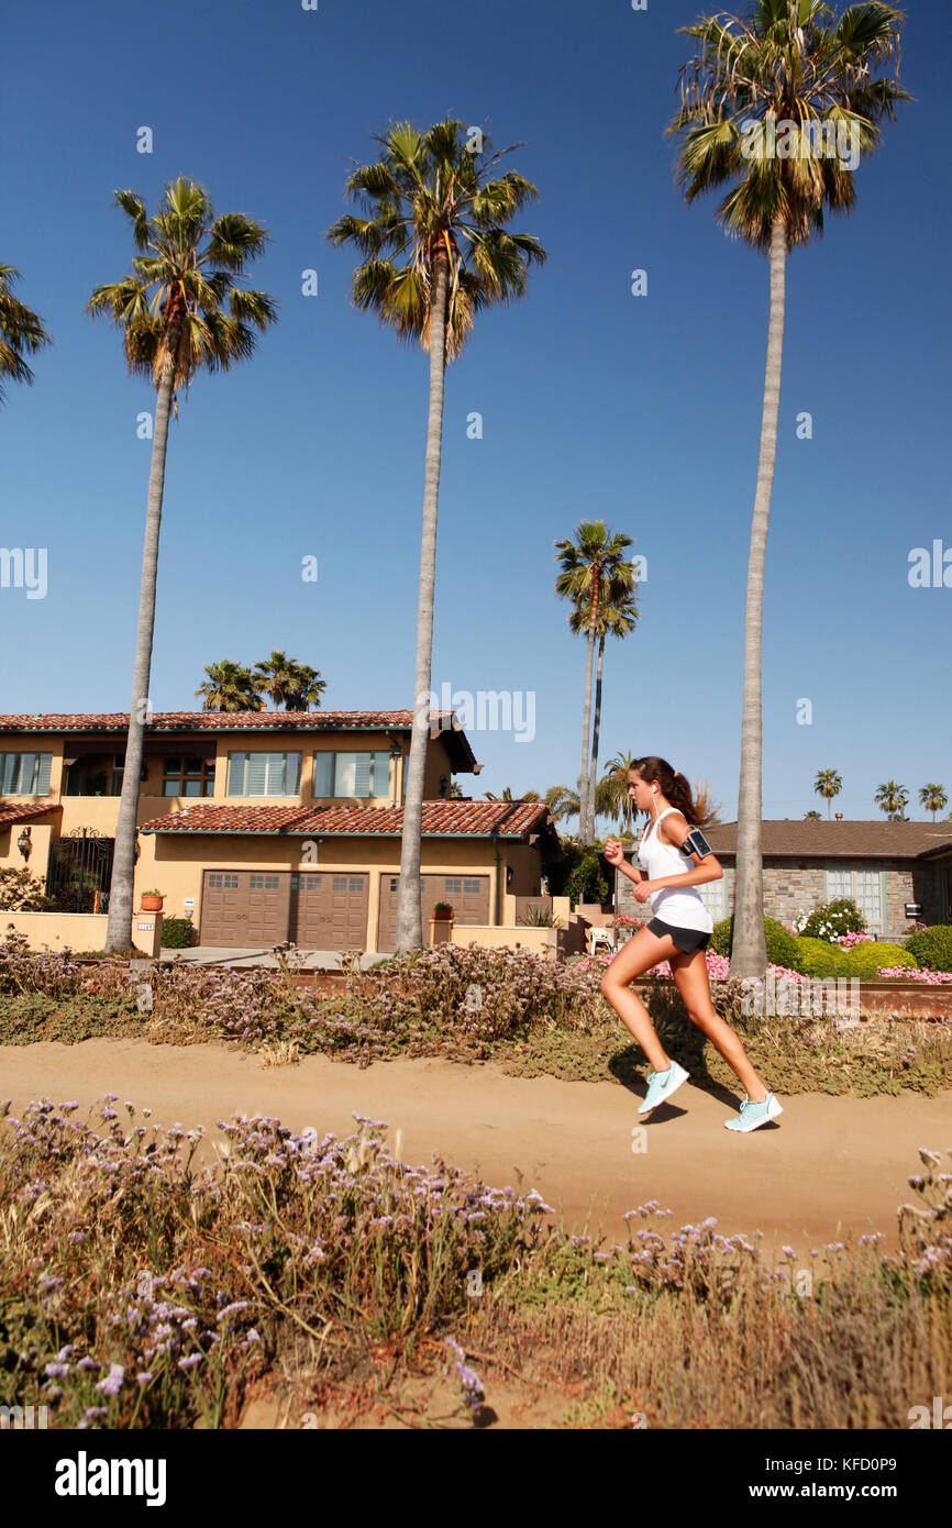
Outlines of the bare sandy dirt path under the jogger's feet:
{"label": "bare sandy dirt path under the jogger's feet", "polygon": [[[225,1045],[148,1045],[93,1039],[0,1047],[0,1099],[15,1114],[43,1096],[83,1108],[116,1093],[153,1109],[153,1123],[202,1123],[222,1140],[215,1120],[235,1112],[277,1115],[292,1129],[315,1126],[339,1137],[356,1131],[351,1111],[400,1134],[403,1161],[429,1163],[436,1151],[491,1184],[538,1187],[576,1230],[623,1242],[627,1210],[648,1199],[674,1210],[662,1235],[708,1215],[723,1236],[764,1232],[764,1256],[788,1244],[818,1268],[810,1248],[883,1232],[894,1251],[897,1209],[915,1203],[908,1178],[920,1170],[918,1148],[952,1148],[952,1093],[935,1099],[784,1097],[784,1114],[747,1135],[723,1128],[737,1112],[724,1096],[685,1083],[643,1126],[643,1149],[631,1131],[640,1096],[614,1082],[507,1077],[494,1063],[443,1060],[376,1062],[361,1071],[324,1056],[264,1068]],[[740,1102],[740,1099],[737,1100]],[[637,1140],[634,1141],[637,1144]],[[639,1219],[636,1225],[643,1224]]]}

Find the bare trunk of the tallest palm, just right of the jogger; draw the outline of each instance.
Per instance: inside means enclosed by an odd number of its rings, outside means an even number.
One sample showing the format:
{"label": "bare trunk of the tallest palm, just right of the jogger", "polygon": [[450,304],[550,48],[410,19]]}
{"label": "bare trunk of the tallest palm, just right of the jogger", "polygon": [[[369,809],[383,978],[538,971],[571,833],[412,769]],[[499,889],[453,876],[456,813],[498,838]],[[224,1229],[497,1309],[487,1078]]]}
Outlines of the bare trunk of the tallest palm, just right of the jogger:
{"label": "bare trunk of the tallest palm, just right of the jogger", "polygon": [[750,526],[747,561],[747,607],[744,614],[744,711],[741,720],[741,775],[737,807],[737,888],[733,902],[733,947],[729,976],[764,976],[767,943],[764,938],[764,863],[763,863],[763,707],[761,642],[764,617],[764,561],[770,495],[776,465],[776,423],[784,356],[784,303],[787,272],[787,225],[776,219],[770,234],[770,321],[767,327],[767,371],[761,419],[761,454],[756,472],[756,498]]}

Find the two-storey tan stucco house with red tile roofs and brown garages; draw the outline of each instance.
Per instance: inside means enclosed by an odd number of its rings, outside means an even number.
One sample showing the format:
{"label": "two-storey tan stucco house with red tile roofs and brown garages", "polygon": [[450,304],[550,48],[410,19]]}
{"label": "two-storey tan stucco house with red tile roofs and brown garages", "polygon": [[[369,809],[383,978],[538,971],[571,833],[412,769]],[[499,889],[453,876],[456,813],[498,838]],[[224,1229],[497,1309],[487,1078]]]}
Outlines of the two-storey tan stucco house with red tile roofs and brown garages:
{"label": "two-storey tan stucco house with red tile roofs and brown garages", "polygon": [[[127,715],[0,717],[0,868],[24,863],[63,912],[104,912]],[[165,894],[202,944],[393,950],[410,711],[170,712],[145,727],[134,906]],[[561,845],[544,802],[448,796],[478,766],[431,712],[423,784],[423,938],[498,926],[539,892]],[[509,902],[507,902],[509,898]]]}

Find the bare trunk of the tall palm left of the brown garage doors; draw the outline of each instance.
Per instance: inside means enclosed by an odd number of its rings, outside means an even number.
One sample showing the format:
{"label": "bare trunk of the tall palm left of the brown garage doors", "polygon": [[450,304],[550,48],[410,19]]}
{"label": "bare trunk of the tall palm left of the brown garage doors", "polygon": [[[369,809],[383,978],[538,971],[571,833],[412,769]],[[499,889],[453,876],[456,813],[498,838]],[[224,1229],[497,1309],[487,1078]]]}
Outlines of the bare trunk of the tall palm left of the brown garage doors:
{"label": "bare trunk of the tall palm left of the brown garage doors", "polygon": [[153,435],[153,455],[151,466],[148,469],[148,507],[145,512],[145,544],[142,549],[142,584],[139,590],[139,630],[136,633],[133,701],[128,714],[122,795],[119,796],[113,874],[108,888],[105,949],[110,950],[124,949],[131,941],[139,775],[142,773],[142,744],[145,740],[145,712],[148,709],[148,680],[151,672],[153,634],[156,630],[159,529],[162,526],[165,451],[168,446],[168,416],[171,413],[176,350],[177,333],[170,333],[168,359],[165,362],[159,387],[156,388],[156,432]]}

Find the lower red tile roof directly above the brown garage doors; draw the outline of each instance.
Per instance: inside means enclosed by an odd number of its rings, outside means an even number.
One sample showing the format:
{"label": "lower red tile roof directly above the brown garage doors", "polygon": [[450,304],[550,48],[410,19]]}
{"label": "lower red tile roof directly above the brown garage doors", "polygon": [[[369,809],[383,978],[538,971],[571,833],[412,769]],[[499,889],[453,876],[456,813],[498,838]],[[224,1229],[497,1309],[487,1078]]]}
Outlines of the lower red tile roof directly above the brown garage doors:
{"label": "lower red tile roof directly above the brown garage doors", "polygon": [[[549,808],[542,801],[425,801],[422,833],[425,837],[487,837],[492,828],[501,837],[526,837],[529,833],[555,836]],[[403,807],[222,807],[203,802],[153,817],[139,833],[293,833],[379,834],[400,837]]]}

